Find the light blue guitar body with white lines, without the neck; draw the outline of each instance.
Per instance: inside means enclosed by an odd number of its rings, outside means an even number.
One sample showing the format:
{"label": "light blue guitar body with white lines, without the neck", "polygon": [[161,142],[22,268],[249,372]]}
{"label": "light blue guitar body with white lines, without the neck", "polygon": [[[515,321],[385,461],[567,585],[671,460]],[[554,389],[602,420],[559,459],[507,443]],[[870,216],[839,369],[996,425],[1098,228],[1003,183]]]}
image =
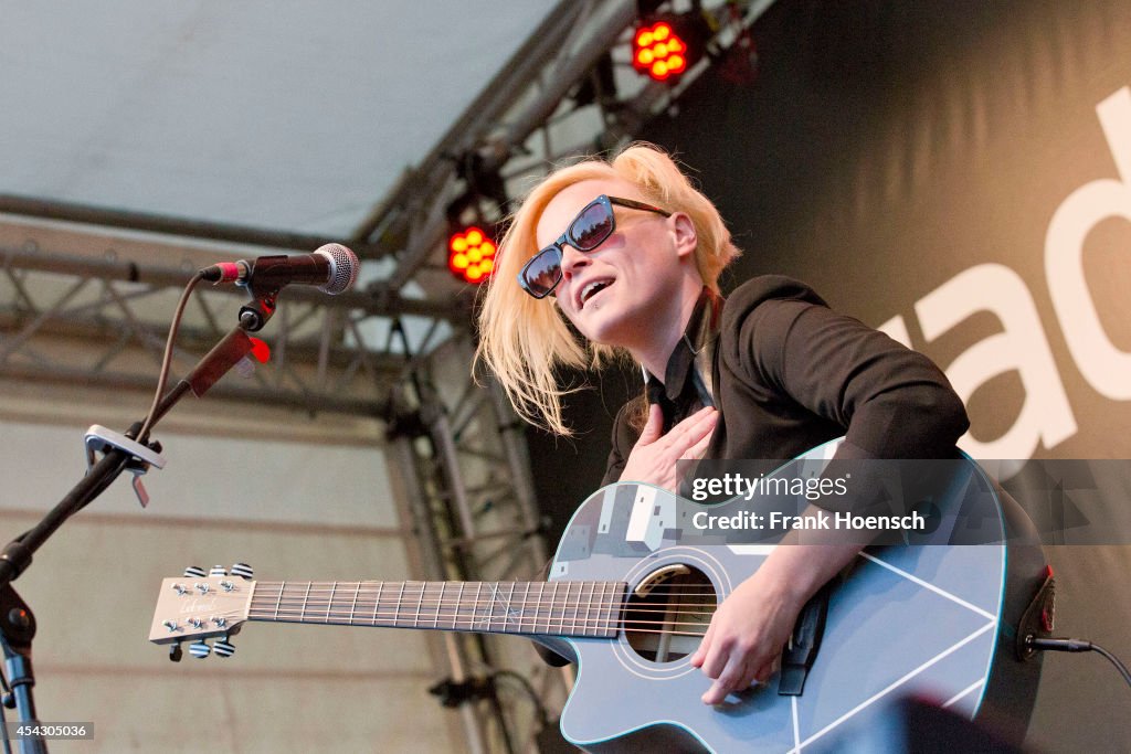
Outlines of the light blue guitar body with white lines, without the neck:
{"label": "light blue guitar body with white lines, without the neck", "polygon": [[[821,447],[779,474],[812,475],[835,447]],[[832,591],[823,641],[802,694],[779,695],[774,676],[720,707],[708,707],[700,696],[710,679],[689,662],[698,636],[668,642],[663,632],[621,631],[614,639],[559,638],[578,662],[577,685],[562,712],[563,735],[594,752],[820,751],[845,733],[843,726],[915,694],[1020,738],[1039,665],[1013,659],[1011,631],[1039,584],[1043,556],[1016,530],[1005,536],[1009,517],[981,471],[957,486],[935,509],[941,515],[933,520],[933,534],[913,545],[869,548],[857,557]],[[628,626],[653,625],[633,622],[633,615],[650,621],[661,615],[657,610],[672,609],[663,595],[706,593],[673,610],[670,625],[677,629],[687,624],[680,616],[694,621],[707,612],[703,603],[707,608],[722,603],[775,547],[763,531],[706,530],[696,522],[707,520],[702,514],[765,510],[766,502],[740,497],[708,506],[646,485],[605,487],[575,513],[550,579],[625,582]],[[948,544],[969,520],[979,522],[977,541],[985,544]],[[651,580],[659,583],[649,596],[632,596],[641,584],[648,591]],[[690,587],[673,586],[680,581]],[[632,603],[639,603],[634,614]],[[673,649],[681,639],[682,647]]]}

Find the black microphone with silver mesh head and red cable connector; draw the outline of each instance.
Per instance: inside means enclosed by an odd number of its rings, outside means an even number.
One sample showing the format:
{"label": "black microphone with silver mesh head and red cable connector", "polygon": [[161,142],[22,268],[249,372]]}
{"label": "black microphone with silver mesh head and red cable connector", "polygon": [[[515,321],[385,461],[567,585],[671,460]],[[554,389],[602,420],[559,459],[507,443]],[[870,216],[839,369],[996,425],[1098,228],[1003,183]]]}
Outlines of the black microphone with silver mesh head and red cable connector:
{"label": "black microphone with silver mesh head and red cable connector", "polygon": [[234,283],[252,291],[271,291],[288,283],[314,285],[333,296],[353,286],[360,267],[357,254],[340,243],[328,243],[312,254],[219,262],[200,270],[200,276],[209,283]]}

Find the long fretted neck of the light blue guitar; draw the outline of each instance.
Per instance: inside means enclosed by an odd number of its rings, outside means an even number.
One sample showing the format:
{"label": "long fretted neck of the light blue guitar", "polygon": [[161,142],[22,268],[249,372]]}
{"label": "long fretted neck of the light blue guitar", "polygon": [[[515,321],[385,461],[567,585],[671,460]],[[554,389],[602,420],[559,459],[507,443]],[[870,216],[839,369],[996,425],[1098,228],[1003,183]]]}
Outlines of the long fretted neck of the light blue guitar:
{"label": "long fretted neck of the light blue guitar", "polygon": [[257,581],[249,621],[615,636],[616,581]]}

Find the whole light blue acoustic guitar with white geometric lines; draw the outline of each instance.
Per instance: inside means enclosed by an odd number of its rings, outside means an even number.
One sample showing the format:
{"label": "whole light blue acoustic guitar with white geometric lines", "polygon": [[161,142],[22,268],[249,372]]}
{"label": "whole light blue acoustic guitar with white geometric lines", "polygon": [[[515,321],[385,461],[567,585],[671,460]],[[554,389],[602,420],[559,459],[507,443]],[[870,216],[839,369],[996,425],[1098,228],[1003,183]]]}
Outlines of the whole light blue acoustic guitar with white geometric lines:
{"label": "whole light blue acoustic guitar with white geometric lines", "polygon": [[[815,477],[835,447],[774,477]],[[820,751],[846,723],[866,723],[905,694],[1019,738],[1039,664],[1016,658],[1015,627],[1044,560],[981,470],[962,468],[920,501],[924,529],[862,552],[827,600],[811,604],[782,673],[718,707],[699,701],[711,682],[689,656],[718,603],[774,547],[789,546],[777,544],[769,517],[796,512],[803,496],[703,505],[647,485],[612,485],[573,514],[549,581],[252,581],[242,569],[190,572],[163,582],[149,639],[188,640],[204,657],[231,653],[227,636],[248,621],[532,636],[578,662],[561,729],[589,751]]]}

